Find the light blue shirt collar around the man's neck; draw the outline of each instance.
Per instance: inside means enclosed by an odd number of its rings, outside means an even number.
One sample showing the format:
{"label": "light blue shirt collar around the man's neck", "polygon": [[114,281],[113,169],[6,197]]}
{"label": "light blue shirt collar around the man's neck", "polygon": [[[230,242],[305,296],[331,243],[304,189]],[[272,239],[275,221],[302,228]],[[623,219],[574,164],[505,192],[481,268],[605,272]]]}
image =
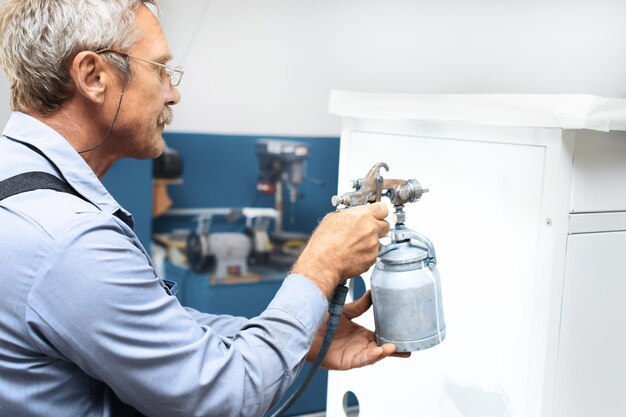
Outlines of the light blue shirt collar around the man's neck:
{"label": "light blue shirt collar around the man's neck", "polygon": [[131,216],[104,188],[72,145],[54,129],[25,113],[13,112],[3,135],[38,149],[80,195],[100,210],[109,213],[120,210],[125,216]]}

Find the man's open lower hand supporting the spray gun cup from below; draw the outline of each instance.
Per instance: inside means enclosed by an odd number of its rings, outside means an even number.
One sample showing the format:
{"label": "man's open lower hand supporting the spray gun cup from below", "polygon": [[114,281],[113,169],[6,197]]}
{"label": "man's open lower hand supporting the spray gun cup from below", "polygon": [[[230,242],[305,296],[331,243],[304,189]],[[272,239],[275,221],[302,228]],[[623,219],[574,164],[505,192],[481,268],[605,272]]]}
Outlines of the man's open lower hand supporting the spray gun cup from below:
{"label": "man's open lower hand supporting the spray gun cup from below", "polygon": [[[376,345],[374,333],[363,326],[352,322],[352,319],[363,314],[372,305],[371,293],[368,291],[363,297],[353,303],[346,304],[341,316],[337,333],[328,353],[322,362],[326,369],[346,370],[371,365],[387,356],[408,358],[410,352],[396,353],[396,345],[386,343]],[[322,346],[326,323],[317,332],[307,360],[313,362]]]}

